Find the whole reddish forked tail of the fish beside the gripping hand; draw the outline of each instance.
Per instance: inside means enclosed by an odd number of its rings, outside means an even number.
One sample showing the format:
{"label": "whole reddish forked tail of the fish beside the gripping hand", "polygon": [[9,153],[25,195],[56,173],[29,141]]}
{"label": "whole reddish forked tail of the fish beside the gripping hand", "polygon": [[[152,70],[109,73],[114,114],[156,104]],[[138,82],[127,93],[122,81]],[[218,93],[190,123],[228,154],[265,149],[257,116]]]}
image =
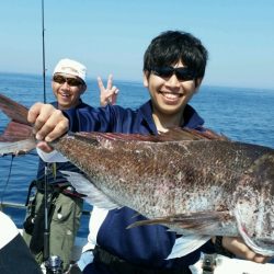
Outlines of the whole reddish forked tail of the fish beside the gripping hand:
{"label": "whole reddish forked tail of the fish beside the gripping hand", "polygon": [[0,94],[0,110],[11,118],[0,135],[0,156],[26,153],[35,148],[32,126],[27,122],[27,109]]}

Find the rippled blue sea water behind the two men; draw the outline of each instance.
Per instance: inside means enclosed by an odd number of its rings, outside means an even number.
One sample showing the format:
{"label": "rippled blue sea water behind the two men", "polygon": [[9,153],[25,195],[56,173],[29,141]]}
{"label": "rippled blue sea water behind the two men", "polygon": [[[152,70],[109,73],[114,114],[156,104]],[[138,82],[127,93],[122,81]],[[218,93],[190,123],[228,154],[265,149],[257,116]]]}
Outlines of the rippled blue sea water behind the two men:
{"label": "rippled blue sea water behind the two men", "polygon": [[[138,82],[115,81],[119,89],[118,104],[137,107],[148,98],[148,91]],[[95,80],[88,81],[83,100],[99,105]],[[47,102],[54,100],[50,79],[46,81]],[[0,73],[0,93],[24,104],[44,100],[42,76]],[[202,87],[193,98],[192,105],[206,121],[206,126],[233,140],[253,142],[274,148],[274,90]],[[0,132],[8,119],[0,113]],[[11,165],[12,164],[12,165]],[[37,156],[35,152],[0,158],[0,201],[25,203],[28,183],[35,178]],[[9,176],[11,170],[11,174]],[[8,180],[9,179],[9,180]],[[90,207],[85,205],[85,209]],[[19,227],[24,219],[23,209],[5,209]],[[82,217],[79,235],[88,233],[88,217]]]}

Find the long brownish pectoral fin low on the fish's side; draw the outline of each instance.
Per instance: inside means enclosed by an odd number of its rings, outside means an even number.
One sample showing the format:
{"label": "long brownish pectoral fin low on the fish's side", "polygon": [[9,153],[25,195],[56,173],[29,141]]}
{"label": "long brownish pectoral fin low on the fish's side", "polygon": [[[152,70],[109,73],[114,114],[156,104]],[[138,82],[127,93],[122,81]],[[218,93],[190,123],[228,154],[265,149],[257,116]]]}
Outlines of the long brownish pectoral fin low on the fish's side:
{"label": "long brownish pectoral fin low on the fish's side", "polygon": [[[210,231],[217,224],[231,219],[230,212],[198,212],[192,214],[179,214],[156,219],[147,219],[136,221],[128,228],[134,228],[145,225],[175,225],[184,230],[203,235],[205,231]],[[170,229],[172,230],[172,229]]]}

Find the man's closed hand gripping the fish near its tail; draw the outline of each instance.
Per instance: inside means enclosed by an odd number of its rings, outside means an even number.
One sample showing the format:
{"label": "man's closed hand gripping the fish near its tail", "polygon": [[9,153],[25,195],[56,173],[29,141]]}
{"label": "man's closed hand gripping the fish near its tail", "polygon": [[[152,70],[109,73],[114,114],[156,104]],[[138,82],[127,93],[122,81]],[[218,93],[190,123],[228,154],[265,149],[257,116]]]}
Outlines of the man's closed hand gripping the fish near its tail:
{"label": "man's closed hand gripping the fish near its tail", "polygon": [[[61,111],[50,104],[34,104],[28,111],[27,121],[33,124],[35,137],[41,141],[53,141],[69,129],[69,121]],[[52,151],[53,149],[45,141],[38,144],[37,147],[45,152]]]}

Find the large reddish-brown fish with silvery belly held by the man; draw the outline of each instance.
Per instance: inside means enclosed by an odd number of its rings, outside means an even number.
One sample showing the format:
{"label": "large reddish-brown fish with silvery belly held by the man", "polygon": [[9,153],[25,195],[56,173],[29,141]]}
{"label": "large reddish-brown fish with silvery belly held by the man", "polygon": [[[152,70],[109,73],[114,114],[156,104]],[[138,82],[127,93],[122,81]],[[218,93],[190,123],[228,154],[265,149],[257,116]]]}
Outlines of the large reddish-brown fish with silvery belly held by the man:
{"label": "large reddish-brown fish with silvery belly held by the man", "polygon": [[[12,118],[0,155],[27,151],[35,145],[27,110],[2,95],[0,107]],[[27,148],[23,136],[14,137],[18,124],[28,128]],[[76,187],[93,205],[128,206],[148,218],[133,227],[161,224],[184,235],[240,236],[255,252],[274,255],[272,148],[186,129],[159,137],[77,133],[50,145],[87,174],[88,185],[83,180]]]}

